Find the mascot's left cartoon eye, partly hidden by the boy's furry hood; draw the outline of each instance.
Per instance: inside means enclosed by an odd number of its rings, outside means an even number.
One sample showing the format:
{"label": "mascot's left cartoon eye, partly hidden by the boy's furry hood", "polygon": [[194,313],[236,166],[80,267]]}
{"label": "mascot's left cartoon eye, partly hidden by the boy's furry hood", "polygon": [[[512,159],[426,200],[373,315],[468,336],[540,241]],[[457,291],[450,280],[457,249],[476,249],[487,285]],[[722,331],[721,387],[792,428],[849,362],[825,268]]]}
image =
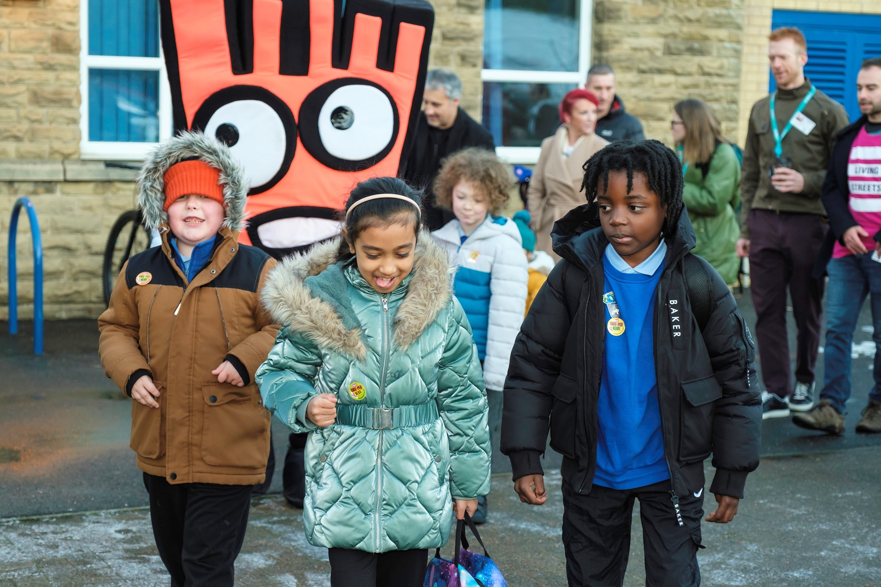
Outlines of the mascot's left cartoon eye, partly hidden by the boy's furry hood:
{"label": "mascot's left cartoon eye, partly hidden by the boy's furry hood", "polygon": [[225,143],[251,189],[261,194],[285,177],[297,146],[297,124],[284,101],[265,88],[233,85],[214,92],[193,117],[193,128]]}

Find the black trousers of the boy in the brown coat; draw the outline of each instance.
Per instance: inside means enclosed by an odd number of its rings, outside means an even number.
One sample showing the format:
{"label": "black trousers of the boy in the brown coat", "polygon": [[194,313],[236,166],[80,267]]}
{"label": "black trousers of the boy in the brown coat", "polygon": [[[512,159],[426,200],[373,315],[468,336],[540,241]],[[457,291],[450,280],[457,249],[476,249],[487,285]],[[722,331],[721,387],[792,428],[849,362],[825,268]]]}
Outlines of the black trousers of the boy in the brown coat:
{"label": "black trousers of the boy in the brown coat", "polygon": [[144,473],[159,558],[172,587],[232,587],[251,485],[181,483]]}

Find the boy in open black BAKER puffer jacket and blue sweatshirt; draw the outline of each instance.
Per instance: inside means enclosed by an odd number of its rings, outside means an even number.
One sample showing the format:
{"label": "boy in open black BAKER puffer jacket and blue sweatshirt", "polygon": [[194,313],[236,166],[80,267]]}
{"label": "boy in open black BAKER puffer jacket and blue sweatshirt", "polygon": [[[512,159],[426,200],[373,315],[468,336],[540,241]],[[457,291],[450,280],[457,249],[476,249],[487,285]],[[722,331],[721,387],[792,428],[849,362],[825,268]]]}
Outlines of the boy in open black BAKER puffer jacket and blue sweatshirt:
{"label": "boy in open black BAKER puffer jacket and blue sweatshirt", "polygon": [[753,342],[725,282],[689,253],[673,151],[612,143],[584,168],[589,203],[554,226],[563,260],[515,342],[501,451],[521,501],[544,503],[550,428],[570,586],[623,583],[635,499],[647,584],[699,585],[704,459],[718,503],[706,519],[722,524],[759,466]]}

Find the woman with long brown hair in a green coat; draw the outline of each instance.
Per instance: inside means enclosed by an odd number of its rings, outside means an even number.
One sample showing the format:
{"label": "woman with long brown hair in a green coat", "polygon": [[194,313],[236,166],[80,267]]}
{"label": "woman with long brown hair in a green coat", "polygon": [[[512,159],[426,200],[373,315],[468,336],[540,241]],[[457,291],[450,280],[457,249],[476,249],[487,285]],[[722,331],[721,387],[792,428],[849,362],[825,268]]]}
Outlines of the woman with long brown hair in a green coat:
{"label": "woman with long brown hair in a green coat", "polygon": [[713,110],[700,99],[684,99],[673,106],[670,131],[682,157],[683,200],[698,240],[692,253],[707,260],[726,283],[737,282],[737,153],[722,136]]}

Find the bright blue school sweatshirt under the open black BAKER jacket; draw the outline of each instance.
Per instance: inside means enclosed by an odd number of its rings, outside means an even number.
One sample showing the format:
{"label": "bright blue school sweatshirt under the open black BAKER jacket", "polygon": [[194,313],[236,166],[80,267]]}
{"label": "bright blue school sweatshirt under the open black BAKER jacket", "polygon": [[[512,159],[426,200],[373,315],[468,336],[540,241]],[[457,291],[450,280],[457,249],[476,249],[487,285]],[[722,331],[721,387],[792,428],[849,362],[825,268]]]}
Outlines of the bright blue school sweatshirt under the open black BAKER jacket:
{"label": "bright blue school sweatshirt under the open black BAKER jacket", "polygon": [[[611,245],[603,255],[603,292],[613,293],[624,333],[605,333],[603,375],[596,406],[594,483],[640,488],[670,479],[664,460],[655,378],[655,298],[667,246],[631,268]],[[604,297],[605,298],[605,297]],[[611,319],[610,306],[605,319]]]}

